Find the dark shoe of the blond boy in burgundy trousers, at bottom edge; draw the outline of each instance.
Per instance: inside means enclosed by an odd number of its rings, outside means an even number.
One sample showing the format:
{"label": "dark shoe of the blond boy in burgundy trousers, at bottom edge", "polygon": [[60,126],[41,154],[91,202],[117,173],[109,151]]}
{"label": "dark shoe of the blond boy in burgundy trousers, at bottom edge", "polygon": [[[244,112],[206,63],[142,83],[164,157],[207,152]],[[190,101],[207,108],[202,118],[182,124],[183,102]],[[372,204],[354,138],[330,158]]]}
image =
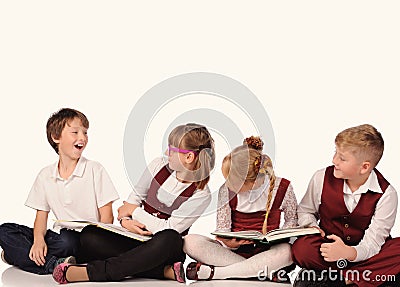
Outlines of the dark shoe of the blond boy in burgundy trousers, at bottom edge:
{"label": "dark shoe of the blond boy in burgundy trousers, at bottom edge", "polygon": [[[297,274],[293,287],[344,287],[346,282],[343,278],[333,280],[329,278],[328,272],[321,272],[317,270],[301,269]],[[333,274],[337,277],[338,274]]]}

